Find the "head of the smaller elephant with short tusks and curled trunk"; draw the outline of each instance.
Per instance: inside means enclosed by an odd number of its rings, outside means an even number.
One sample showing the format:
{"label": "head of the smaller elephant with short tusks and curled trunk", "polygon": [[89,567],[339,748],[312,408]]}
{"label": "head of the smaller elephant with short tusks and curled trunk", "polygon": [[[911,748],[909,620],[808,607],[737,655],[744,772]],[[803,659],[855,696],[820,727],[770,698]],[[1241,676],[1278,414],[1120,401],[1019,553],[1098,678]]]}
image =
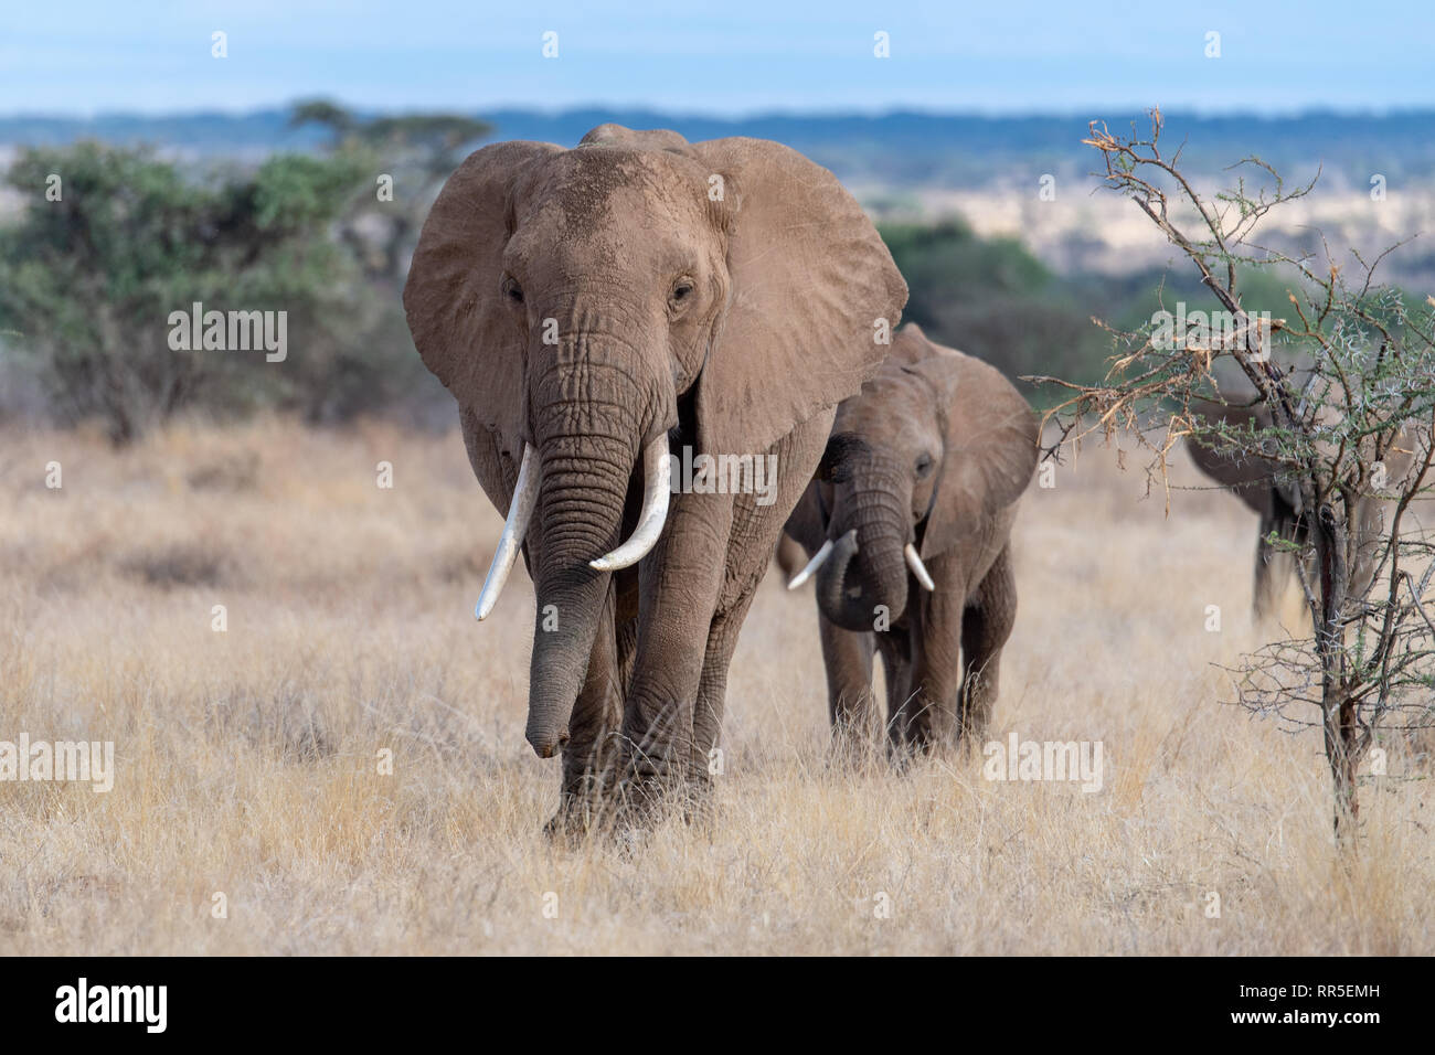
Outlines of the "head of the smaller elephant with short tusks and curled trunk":
{"label": "head of the smaller elephant with short tusks and curled trunk", "polygon": [[897,622],[926,564],[963,545],[1015,502],[1036,466],[1030,406],[992,366],[933,344],[908,324],[881,372],[845,400],[818,478],[788,530],[817,555],[822,614],[871,630],[878,607]]}

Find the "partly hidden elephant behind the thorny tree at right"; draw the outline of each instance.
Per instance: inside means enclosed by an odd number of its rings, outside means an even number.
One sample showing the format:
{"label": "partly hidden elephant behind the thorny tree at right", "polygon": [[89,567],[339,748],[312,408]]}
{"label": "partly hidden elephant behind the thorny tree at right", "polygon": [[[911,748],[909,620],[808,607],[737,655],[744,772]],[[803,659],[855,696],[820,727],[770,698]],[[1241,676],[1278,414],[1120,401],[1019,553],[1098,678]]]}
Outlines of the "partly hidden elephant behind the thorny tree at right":
{"label": "partly hidden elephant behind the thorny tree at right", "polygon": [[[1231,431],[1246,432],[1254,428],[1258,432],[1271,425],[1270,411],[1264,406],[1225,406],[1204,402],[1201,408],[1204,409],[1195,412],[1198,419],[1211,425],[1224,421]],[[1273,548],[1266,541],[1270,533],[1274,531],[1279,538],[1304,548],[1307,577],[1313,573],[1310,561],[1314,553],[1310,548],[1309,518],[1302,511],[1300,488],[1294,487],[1290,479],[1281,478],[1274,462],[1223,451],[1214,439],[1188,441],[1187,451],[1203,474],[1230,489],[1260,517],[1256,534],[1253,607],[1257,620],[1279,616],[1281,594],[1296,577],[1297,554],[1290,550]],[[1392,482],[1399,479],[1409,469],[1409,465],[1411,455],[1408,452],[1393,451],[1386,459],[1388,479]],[[1358,560],[1352,566],[1350,576],[1353,594],[1365,593],[1376,570],[1379,535],[1383,525],[1382,505],[1383,501],[1379,497],[1365,495],[1352,518],[1359,531]]]}

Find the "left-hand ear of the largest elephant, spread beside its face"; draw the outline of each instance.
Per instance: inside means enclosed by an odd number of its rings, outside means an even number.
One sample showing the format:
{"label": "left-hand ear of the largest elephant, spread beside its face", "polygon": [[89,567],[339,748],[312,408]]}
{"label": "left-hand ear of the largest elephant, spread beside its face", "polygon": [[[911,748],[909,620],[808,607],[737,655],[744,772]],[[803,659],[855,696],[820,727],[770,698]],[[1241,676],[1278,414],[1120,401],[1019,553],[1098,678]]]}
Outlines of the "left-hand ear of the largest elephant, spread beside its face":
{"label": "left-hand ear of the largest elephant, spread beside its face", "polygon": [[423,221],[403,310],[423,365],[515,461],[522,454],[522,339],[502,303],[515,181],[552,144],[484,146],[449,177]]}

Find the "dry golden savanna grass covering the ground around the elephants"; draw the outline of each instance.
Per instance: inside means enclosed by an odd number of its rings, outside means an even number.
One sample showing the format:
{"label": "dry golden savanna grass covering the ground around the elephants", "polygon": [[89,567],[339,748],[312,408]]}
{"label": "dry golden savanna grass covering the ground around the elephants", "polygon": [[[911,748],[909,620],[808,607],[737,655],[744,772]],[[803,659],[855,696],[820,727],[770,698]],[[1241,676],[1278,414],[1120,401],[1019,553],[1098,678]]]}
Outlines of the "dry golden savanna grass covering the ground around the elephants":
{"label": "dry golden savanna grass covering the ground around the elephants", "polygon": [[811,590],[773,574],[715,834],[673,820],[624,853],[540,835],[532,591],[474,622],[501,520],[456,432],[0,449],[0,739],[109,739],[116,764],[108,794],[0,784],[0,953],[1435,952],[1435,794],[1395,779],[1426,764],[1389,745],[1342,864],[1319,735],[1221,702],[1214,665],[1258,643],[1254,517],[1177,492],[1167,518],[1109,451],[1023,500],[992,731],[1101,741],[1099,792],[828,766]]}

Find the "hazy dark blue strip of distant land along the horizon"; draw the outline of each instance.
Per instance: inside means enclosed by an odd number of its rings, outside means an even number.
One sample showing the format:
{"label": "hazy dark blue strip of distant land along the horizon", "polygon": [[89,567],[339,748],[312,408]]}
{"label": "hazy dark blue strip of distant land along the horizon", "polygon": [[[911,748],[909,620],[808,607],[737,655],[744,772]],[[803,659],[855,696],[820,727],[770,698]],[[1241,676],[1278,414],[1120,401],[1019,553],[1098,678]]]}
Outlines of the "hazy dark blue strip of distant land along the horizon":
{"label": "hazy dark blue strip of distant land along the horizon", "polygon": [[[992,118],[960,113],[894,112],[881,116],[771,113],[713,118],[660,111],[574,109],[558,113],[502,109],[481,113],[498,139],[574,144],[594,125],[613,121],[633,128],[676,128],[689,139],[751,135],[778,139],[827,165],[842,179],[893,188],[974,188],[1030,184],[1035,175],[1085,175],[1095,155],[1081,145],[1091,116],[1114,129],[1142,113]],[[319,129],[288,128],[281,109],[251,113],[166,116],[100,115],[0,118],[0,146],[55,145],[82,138],[151,142],[195,156],[263,156],[277,149],[313,149]],[[1435,111],[1386,115],[1310,112],[1299,116],[1200,116],[1168,113],[1164,141],[1190,146],[1195,174],[1258,154],[1290,178],[1309,178],[1325,165],[1327,187],[1366,187],[1379,172],[1392,184],[1435,179]]]}

